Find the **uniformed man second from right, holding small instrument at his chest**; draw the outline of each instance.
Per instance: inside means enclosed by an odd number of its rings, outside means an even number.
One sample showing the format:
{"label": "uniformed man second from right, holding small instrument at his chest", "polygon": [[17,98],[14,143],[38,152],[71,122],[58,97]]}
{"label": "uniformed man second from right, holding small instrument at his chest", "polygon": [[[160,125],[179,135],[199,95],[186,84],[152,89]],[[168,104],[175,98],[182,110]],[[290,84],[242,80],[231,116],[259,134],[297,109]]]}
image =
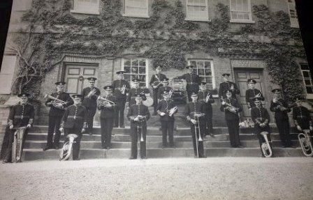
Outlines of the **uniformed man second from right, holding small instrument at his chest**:
{"label": "uniformed man second from right, holding small instrument at his chest", "polygon": [[272,93],[274,98],[270,101],[270,111],[275,112],[275,121],[279,132],[282,146],[293,147],[291,145],[291,138],[289,132],[289,118],[288,113],[291,109],[288,107],[287,102],[282,99],[280,89],[273,89]]}

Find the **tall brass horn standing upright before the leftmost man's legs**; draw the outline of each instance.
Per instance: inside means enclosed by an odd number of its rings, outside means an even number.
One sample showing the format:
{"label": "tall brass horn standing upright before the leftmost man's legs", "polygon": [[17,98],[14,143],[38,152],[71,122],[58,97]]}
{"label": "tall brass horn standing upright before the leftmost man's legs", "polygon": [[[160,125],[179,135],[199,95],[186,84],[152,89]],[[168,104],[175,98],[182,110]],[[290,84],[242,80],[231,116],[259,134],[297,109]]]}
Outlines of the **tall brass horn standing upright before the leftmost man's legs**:
{"label": "tall brass horn standing upright before the leftmost man's legs", "polygon": [[22,162],[22,144],[26,126],[14,128],[14,141],[12,146],[12,162]]}

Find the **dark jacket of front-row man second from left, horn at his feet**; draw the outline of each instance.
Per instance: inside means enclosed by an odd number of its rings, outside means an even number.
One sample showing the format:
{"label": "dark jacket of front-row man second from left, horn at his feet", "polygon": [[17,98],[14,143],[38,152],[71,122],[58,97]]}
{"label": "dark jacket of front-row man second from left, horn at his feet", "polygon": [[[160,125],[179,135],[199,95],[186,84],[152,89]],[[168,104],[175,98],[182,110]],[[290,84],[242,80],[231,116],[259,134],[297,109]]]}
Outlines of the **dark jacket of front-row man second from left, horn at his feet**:
{"label": "dark jacket of front-row man second from left, horn at his feet", "polygon": [[83,105],[71,105],[64,112],[62,128],[82,129],[87,126],[87,109]]}

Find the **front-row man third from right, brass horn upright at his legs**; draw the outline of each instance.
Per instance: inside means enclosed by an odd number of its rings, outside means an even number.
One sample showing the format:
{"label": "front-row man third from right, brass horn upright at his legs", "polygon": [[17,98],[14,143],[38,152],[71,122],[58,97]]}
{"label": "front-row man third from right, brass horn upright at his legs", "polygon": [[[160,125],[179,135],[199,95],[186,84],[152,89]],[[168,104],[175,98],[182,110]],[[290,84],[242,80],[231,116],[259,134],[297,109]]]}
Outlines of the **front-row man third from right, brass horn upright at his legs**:
{"label": "front-row man third from right, brass horn upright at his legs", "polygon": [[[254,122],[254,133],[259,138],[260,148],[263,142],[265,142],[264,137],[261,132],[268,132],[268,141],[270,143],[270,148],[272,148],[272,140],[270,139],[270,115],[268,110],[261,106],[261,98],[254,98],[254,107],[251,109],[251,118]],[[262,157],[265,157],[261,148]],[[273,156],[273,154],[272,154]]]}

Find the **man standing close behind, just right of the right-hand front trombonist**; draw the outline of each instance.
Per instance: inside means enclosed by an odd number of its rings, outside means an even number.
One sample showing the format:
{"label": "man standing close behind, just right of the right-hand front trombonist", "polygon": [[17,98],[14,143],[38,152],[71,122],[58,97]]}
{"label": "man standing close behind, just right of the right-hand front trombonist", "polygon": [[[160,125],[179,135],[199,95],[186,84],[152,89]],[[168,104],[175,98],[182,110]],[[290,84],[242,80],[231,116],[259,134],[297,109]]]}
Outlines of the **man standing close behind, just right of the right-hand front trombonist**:
{"label": "man standing close behind, just right of the right-hand front trombonist", "polygon": [[210,134],[211,137],[214,137],[212,123],[212,103],[214,103],[214,99],[210,91],[206,90],[205,86],[205,82],[201,82],[199,85],[198,100],[203,102],[205,107],[205,134]]}

